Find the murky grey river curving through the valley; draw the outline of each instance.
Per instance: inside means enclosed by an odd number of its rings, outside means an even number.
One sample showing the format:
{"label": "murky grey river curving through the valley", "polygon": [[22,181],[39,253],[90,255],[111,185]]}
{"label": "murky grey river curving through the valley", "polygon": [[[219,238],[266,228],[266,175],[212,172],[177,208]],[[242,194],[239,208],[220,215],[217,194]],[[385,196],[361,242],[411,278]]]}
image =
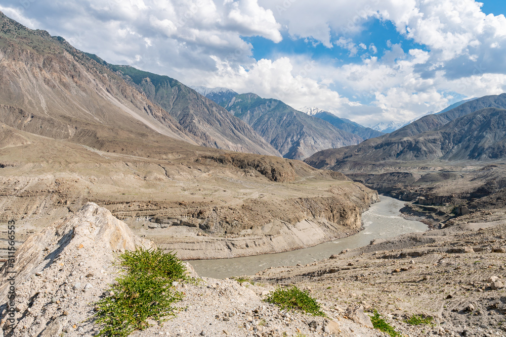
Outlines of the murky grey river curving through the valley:
{"label": "murky grey river curving through the valley", "polygon": [[423,232],[427,225],[418,221],[406,220],[399,210],[404,202],[380,196],[381,202],[371,206],[362,214],[364,230],[335,239],[315,247],[297,251],[248,256],[233,259],[190,261],[201,277],[225,278],[240,275],[254,275],[269,267],[295,266],[308,264],[338,254],[344,249],[354,249],[368,245],[375,238],[391,238],[401,234]]}

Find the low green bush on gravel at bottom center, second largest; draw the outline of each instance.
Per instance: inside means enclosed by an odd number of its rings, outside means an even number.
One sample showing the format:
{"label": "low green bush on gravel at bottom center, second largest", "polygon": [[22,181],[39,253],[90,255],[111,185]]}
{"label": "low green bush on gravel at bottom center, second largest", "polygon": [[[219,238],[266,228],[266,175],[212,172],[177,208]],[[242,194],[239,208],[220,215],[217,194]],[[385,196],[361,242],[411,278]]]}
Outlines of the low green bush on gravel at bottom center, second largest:
{"label": "low green bush on gravel at bottom center, second largest", "polygon": [[294,309],[310,313],[313,316],[325,316],[321,311],[320,304],[307,292],[301,291],[296,286],[287,289],[278,288],[265,301],[273,303],[281,309]]}

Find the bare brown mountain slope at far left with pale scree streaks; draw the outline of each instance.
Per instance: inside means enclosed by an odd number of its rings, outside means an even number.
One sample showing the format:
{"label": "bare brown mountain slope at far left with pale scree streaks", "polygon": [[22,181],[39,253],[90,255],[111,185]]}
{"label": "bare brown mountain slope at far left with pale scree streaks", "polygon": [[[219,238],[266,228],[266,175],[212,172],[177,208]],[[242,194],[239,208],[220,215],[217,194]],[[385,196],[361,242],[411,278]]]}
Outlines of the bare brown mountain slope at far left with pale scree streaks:
{"label": "bare brown mountain slope at far left with pale scree streaks", "polygon": [[196,143],[166,111],[62,38],[30,30],[2,13],[0,24],[3,123],[96,146],[112,127],[124,131],[119,137],[158,132]]}

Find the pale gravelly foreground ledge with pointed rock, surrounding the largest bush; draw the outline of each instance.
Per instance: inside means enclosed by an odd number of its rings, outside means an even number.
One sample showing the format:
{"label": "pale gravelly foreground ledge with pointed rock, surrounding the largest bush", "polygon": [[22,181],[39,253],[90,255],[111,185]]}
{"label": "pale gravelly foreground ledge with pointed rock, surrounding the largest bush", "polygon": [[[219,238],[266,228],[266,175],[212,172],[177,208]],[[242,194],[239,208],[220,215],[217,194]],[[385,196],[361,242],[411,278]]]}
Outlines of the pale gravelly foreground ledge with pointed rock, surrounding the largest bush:
{"label": "pale gravelly foreground ledge with pointed rock, surrounding the largest bush", "polygon": [[[102,298],[117,276],[112,264],[118,252],[136,247],[154,248],[111,213],[89,203],[75,215],[32,235],[17,251],[16,298],[18,319],[14,330],[6,325],[7,305],[2,310],[2,335],[53,337],[97,335],[94,303]],[[192,270],[191,266],[189,269]],[[6,266],[0,296],[7,302]],[[194,272],[193,272],[194,273]],[[195,276],[195,274],[193,274]],[[133,336],[151,335],[328,335],[354,331],[363,336],[379,335],[357,308],[350,313],[359,322],[332,320],[330,303],[322,302],[328,318],[282,311],[263,301],[276,284],[262,285],[235,280],[202,278],[199,284],[177,284],[186,294],[178,316]],[[340,332],[341,331],[341,332]],[[343,332],[345,333],[345,332]],[[349,333],[349,332],[346,332]],[[345,334],[346,335],[346,334]]]}

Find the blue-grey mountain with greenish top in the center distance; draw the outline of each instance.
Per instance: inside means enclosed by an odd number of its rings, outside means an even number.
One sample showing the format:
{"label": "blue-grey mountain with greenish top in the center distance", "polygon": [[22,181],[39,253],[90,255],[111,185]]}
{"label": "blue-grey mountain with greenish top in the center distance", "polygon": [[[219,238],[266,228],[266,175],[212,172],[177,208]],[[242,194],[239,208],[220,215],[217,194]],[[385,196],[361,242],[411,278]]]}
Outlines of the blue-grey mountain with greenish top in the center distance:
{"label": "blue-grey mountain with greenish top in the center distance", "polygon": [[251,125],[284,158],[302,160],[323,149],[358,144],[363,140],[281,101],[262,99],[254,93],[237,95],[226,109]]}

